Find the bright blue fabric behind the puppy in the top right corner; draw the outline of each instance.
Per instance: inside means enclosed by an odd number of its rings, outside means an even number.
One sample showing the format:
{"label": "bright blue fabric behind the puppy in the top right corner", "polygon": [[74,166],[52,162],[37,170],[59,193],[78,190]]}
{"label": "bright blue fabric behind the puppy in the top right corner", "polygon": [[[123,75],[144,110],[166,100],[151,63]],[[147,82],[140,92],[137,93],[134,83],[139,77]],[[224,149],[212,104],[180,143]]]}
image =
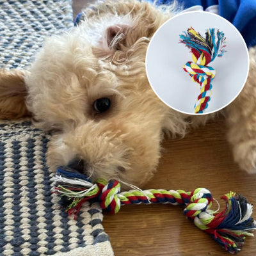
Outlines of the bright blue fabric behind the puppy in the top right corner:
{"label": "bright blue fabric behind the puppy in the top right corner", "polygon": [[[153,3],[154,0],[145,0]],[[157,4],[170,4],[173,0],[157,0]],[[241,33],[247,46],[256,44],[256,1],[255,0],[177,0],[184,9],[200,5],[204,10],[218,4],[220,16],[230,21]]]}

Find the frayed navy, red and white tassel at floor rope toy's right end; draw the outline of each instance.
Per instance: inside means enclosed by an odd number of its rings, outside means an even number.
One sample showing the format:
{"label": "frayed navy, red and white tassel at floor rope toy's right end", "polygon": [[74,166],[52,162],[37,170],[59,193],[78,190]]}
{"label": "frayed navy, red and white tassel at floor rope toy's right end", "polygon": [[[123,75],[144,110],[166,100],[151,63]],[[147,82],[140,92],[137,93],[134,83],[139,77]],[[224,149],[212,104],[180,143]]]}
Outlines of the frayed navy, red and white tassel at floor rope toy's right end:
{"label": "frayed navy, red and white tassel at floor rope toy's right end", "polygon": [[225,250],[234,254],[241,250],[246,236],[253,236],[252,231],[256,230],[256,222],[252,218],[253,207],[244,196],[233,192],[221,198],[226,201],[222,212],[201,212],[194,223]]}

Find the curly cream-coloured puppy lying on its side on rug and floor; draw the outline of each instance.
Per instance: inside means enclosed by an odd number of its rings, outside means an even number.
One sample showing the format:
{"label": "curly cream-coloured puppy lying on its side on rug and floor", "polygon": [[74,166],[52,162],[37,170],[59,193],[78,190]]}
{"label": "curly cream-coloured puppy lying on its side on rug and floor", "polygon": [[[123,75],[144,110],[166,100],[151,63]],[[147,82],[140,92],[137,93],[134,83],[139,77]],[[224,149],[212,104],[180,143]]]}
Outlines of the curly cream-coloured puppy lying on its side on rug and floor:
{"label": "curly cream-coloured puppy lying on its side on rug and floor", "polygon": [[[174,14],[137,0],[106,0],[86,19],[51,36],[28,70],[0,71],[0,118],[31,116],[52,131],[50,170],[72,166],[92,180],[142,187],[157,170],[161,141],[183,137],[218,113],[189,116],[168,108],[150,88],[145,56],[150,38]],[[221,113],[234,161],[256,172],[256,49],[243,91]]]}

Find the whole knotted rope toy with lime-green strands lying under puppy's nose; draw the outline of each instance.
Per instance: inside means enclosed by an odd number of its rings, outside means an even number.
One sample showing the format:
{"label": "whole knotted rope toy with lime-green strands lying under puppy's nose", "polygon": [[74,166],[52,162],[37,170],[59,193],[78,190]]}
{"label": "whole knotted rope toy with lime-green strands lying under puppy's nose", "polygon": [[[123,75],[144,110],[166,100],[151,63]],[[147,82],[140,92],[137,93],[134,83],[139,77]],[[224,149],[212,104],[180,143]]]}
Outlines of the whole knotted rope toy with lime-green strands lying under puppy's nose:
{"label": "whole knotted rope toy with lime-green strands lying under puppy's nose", "polygon": [[62,205],[69,215],[75,214],[75,218],[81,205],[88,200],[100,202],[102,209],[112,213],[118,212],[121,205],[129,204],[184,205],[184,215],[230,253],[239,252],[245,236],[253,236],[251,232],[256,230],[252,205],[246,198],[233,192],[221,197],[226,207],[222,212],[217,212],[211,210],[213,198],[205,188],[191,192],[164,189],[120,192],[120,183],[116,180],[107,182],[99,179],[92,184],[85,175],[72,172],[67,167],[58,168],[55,182],[56,193],[63,199]]}

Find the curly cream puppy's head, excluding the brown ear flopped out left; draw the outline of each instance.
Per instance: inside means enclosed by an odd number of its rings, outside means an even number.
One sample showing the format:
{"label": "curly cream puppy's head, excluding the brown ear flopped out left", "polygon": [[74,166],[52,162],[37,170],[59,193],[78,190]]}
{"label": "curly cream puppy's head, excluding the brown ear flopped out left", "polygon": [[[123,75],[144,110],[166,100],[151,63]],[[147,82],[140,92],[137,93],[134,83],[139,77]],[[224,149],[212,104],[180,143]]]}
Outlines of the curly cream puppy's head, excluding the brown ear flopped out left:
{"label": "curly cream puppy's head, excluding the brown ear flopped out left", "polygon": [[72,164],[93,180],[141,186],[156,170],[168,112],[148,84],[145,54],[167,17],[143,2],[116,2],[45,42],[26,77],[27,104],[38,127],[58,130],[52,170]]}

